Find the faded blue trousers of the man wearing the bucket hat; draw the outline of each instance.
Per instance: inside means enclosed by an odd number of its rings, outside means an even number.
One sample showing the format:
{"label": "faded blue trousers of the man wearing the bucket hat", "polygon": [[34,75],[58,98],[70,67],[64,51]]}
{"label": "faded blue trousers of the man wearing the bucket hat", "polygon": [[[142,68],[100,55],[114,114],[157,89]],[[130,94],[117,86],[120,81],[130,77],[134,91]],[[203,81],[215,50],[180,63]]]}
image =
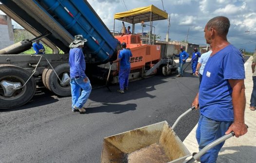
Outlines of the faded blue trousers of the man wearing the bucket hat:
{"label": "faded blue trousers of the man wearing the bucket hat", "polygon": [[72,108],[73,106],[81,109],[86,103],[89,95],[91,94],[91,83],[88,78],[87,82],[84,82],[84,78],[74,79],[70,81],[71,95],[72,95]]}

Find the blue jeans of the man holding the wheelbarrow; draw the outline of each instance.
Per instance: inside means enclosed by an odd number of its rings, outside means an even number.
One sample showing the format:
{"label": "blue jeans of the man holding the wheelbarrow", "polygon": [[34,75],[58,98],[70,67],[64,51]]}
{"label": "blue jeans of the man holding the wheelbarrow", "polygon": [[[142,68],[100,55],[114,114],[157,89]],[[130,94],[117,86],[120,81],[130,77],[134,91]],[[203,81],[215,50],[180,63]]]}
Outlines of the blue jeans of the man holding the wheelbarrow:
{"label": "blue jeans of the man holding the wheelbarrow", "polygon": [[[232,121],[216,121],[201,114],[196,131],[199,150],[225,135],[225,132],[232,123]],[[201,163],[216,163],[219,150],[223,145],[224,142],[209,149],[204,155],[201,156]]]}

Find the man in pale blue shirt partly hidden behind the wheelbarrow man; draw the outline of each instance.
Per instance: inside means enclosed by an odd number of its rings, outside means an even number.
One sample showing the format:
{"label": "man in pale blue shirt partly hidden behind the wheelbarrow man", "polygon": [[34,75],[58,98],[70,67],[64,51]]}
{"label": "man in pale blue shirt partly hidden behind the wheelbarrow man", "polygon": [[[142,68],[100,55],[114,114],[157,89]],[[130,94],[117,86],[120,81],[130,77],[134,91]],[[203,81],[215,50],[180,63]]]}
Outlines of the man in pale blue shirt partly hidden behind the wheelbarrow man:
{"label": "man in pale blue shirt partly hidden behind the wheelbarrow man", "polygon": [[208,61],[208,58],[210,57],[211,53],[212,53],[212,48],[210,47],[209,51],[206,53],[203,53],[198,60],[198,64],[197,64],[197,68],[196,68],[196,75],[198,75],[198,77],[199,77],[199,87],[200,87],[201,80],[202,80],[202,73],[203,73],[204,66],[205,66],[206,62]]}

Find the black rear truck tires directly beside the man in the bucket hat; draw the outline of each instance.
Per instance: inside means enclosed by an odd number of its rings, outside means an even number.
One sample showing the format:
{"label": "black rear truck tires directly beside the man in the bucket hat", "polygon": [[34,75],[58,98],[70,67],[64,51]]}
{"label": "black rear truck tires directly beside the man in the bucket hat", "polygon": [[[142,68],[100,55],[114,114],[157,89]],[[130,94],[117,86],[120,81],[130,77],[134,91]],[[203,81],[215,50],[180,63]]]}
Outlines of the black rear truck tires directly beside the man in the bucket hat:
{"label": "black rear truck tires directly beside the man in the bucket hat", "polygon": [[[70,74],[69,64],[57,65],[54,69],[55,69],[55,72],[58,74],[60,80],[62,79],[62,76],[64,73]],[[62,86],[60,84],[60,81],[58,80],[55,72],[52,68],[45,68],[43,70],[42,80],[43,80],[45,87],[58,96],[71,95],[70,84],[67,86]]]}

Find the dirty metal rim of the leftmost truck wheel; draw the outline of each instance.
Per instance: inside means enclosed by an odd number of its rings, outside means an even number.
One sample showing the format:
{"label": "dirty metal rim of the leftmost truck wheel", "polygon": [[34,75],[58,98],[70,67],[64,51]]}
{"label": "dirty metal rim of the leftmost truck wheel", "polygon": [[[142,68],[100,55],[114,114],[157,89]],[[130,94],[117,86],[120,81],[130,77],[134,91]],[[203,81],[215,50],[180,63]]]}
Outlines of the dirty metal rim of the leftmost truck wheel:
{"label": "dirty metal rim of the leftmost truck wheel", "polygon": [[[21,85],[24,85],[24,83],[26,81],[24,81],[23,79],[17,77],[17,76],[4,76],[4,77],[0,77],[0,81],[9,81],[9,82],[15,82],[15,83],[21,83]],[[13,95],[11,97],[5,97],[4,96],[4,88],[2,88],[2,86],[0,85],[0,99],[3,100],[15,100],[20,98],[21,96],[24,95],[24,93],[26,92],[26,85],[23,88],[20,88],[16,91],[14,91]]]}

